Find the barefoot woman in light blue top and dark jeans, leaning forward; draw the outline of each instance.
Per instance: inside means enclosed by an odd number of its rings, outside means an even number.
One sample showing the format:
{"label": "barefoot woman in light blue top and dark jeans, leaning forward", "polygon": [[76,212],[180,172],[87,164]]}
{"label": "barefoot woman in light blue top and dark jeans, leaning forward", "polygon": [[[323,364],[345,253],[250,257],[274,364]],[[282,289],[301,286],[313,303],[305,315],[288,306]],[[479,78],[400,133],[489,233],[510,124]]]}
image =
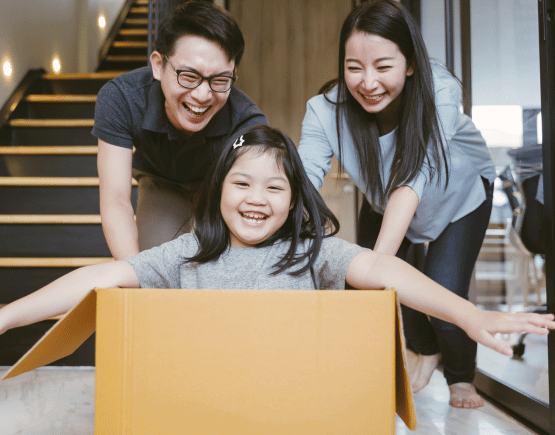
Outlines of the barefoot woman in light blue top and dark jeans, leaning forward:
{"label": "barefoot woman in light blue top and dark jeans, leaning forward", "polygon": [[[459,82],[430,62],[416,23],[392,0],[347,17],[339,77],[308,102],[299,147],[318,188],[335,155],[364,193],[357,243],[406,259],[429,242],[424,272],[467,299],[496,177],[488,148],[460,111]],[[371,204],[371,205],[370,205]],[[434,316],[435,317],[435,316]],[[411,373],[424,387],[440,355],[456,407],[483,404],[472,386],[476,343],[460,328],[403,307]]]}

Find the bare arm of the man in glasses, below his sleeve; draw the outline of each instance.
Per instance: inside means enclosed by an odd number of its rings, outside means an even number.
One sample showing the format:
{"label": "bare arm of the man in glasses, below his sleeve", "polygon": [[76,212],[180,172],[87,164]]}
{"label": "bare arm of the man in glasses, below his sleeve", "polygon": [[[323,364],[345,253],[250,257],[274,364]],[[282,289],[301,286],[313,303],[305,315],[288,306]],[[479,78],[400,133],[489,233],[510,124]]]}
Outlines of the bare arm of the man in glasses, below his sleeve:
{"label": "bare arm of the man in glasses, below his sleeve", "polygon": [[131,204],[133,151],[98,139],[100,217],[102,230],[116,260],[139,253],[139,237]]}

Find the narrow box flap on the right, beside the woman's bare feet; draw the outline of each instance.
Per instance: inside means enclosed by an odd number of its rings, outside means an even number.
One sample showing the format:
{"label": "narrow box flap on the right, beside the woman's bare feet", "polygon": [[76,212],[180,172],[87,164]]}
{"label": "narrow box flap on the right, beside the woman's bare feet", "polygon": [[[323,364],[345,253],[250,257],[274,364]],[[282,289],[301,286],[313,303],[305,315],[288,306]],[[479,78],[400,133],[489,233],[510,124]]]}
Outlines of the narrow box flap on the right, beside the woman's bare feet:
{"label": "narrow box flap on the right, beside the woman's bare feet", "polygon": [[405,336],[403,334],[403,321],[401,317],[401,307],[397,300],[397,315],[395,316],[395,412],[405,422],[410,430],[416,429],[416,413],[414,411],[414,401],[410,380],[407,372],[407,356],[405,348]]}

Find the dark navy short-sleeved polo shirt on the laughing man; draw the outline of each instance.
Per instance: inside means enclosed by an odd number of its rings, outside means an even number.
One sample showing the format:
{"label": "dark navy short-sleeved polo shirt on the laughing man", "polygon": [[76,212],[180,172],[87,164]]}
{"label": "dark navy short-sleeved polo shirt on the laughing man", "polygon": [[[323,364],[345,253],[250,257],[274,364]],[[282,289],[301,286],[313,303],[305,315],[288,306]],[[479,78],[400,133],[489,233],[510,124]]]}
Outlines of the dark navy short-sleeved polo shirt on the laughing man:
{"label": "dark navy short-sleeved polo shirt on the laughing man", "polygon": [[96,100],[93,136],[132,149],[133,167],[178,183],[202,181],[226,140],[238,130],[268,124],[256,104],[232,87],[226,104],[191,136],[168,121],[160,82],[149,67],[106,83]]}

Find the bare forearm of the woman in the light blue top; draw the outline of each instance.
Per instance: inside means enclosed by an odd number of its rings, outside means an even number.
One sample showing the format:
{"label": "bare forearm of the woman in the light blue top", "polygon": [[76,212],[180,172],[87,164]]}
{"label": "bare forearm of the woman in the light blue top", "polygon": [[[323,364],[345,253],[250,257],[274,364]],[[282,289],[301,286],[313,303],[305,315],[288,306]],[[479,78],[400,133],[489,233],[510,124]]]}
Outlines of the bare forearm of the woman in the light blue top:
{"label": "bare forearm of the woman in the light blue top", "polygon": [[374,251],[395,255],[418,207],[418,195],[409,186],[395,189],[385,207]]}

